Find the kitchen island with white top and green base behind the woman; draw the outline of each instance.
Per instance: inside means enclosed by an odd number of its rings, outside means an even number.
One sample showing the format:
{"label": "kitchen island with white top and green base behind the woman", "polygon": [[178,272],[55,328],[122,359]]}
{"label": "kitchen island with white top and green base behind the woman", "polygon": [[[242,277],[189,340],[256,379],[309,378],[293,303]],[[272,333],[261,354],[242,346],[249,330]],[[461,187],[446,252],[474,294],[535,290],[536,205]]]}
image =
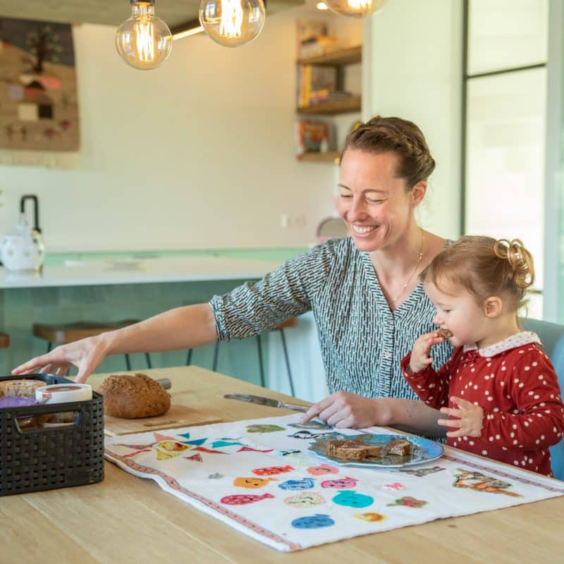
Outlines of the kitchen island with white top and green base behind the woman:
{"label": "kitchen island with white top and green base behind the woman", "polygon": [[[0,268],[0,331],[11,346],[0,351],[0,373],[41,355],[47,343],[32,335],[35,323],[147,319],[155,314],[227,293],[241,283],[261,278],[302,249],[192,250],[184,252],[82,253],[50,255],[39,273]],[[286,331],[296,391],[308,400],[326,394],[324,368],[311,314]],[[262,338],[264,369],[269,386],[289,389],[286,362],[278,334]],[[151,353],[152,366],[181,366],[187,351]],[[214,345],[192,353],[192,364],[212,367]],[[145,370],[145,355],[131,355],[132,368]],[[123,355],[106,357],[99,370],[121,372]],[[245,381],[259,380],[257,341],[221,343],[218,369]],[[308,374],[307,378],[301,377]]]}

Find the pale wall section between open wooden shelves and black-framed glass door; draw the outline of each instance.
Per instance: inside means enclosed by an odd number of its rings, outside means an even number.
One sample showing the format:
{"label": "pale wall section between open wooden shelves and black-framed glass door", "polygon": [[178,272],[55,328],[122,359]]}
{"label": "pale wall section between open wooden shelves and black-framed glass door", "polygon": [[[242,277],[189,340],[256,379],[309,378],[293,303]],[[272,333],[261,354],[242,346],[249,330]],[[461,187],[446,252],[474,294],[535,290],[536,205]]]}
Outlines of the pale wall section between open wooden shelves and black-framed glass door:
{"label": "pale wall section between open wooden shelves and black-framed glass door", "polygon": [[393,0],[364,27],[364,119],[400,116],[422,129],[437,165],[419,223],[460,229],[462,1]]}

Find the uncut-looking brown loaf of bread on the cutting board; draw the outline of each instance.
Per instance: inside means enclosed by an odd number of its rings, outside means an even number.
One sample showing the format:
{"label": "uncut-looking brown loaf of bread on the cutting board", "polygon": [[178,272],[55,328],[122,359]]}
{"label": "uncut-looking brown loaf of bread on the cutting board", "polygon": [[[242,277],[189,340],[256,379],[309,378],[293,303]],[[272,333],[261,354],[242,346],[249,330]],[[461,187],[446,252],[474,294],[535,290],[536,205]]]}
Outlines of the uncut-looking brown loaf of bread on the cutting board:
{"label": "uncut-looking brown loaf of bread on the cutting board", "polygon": [[171,407],[171,396],[146,374],[109,376],[98,391],[104,396],[106,415],[123,419],[157,417]]}

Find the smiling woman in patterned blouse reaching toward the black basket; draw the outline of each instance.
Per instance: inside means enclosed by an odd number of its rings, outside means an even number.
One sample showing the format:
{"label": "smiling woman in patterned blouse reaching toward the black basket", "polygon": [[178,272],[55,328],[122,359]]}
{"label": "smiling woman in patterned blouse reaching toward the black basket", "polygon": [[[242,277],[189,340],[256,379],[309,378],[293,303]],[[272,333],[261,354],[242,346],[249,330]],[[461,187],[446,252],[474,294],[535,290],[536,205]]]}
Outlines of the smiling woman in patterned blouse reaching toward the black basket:
{"label": "smiling woman in patterned blouse reaching toward the black basket", "polygon": [[[417,125],[376,116],[348,135],[341,157],[338,212],[350,238],[329,240],[207,304],[62,345],[13,374],[74,364],[76,381],[85,381],[105,355],[245,338],[311,310],[331,396],[312,405],[304,422],[319,416],[336,427],[443,434],[439,412],[417,401],[400,369],[417,336],[435,328],[418,277],[446,240],[415,222],[434,166]],[[437,346],[436,364],[450,353],[448,343]]]}

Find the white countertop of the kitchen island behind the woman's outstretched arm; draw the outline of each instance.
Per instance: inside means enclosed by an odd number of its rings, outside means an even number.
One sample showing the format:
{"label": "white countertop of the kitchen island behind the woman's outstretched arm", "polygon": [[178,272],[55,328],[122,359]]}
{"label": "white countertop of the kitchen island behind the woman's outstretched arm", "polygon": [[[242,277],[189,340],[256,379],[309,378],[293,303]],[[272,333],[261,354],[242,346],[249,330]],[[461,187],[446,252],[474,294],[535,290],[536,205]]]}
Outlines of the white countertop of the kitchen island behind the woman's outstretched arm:
{"label": "white countertop of the kitchen island behind the woman's outstretched arm", "polygon": [[66,260],[39,272],[0,267],[0,288],[98,286],[155,282],[247,280],[261,278],[281,261],[231,257]]}

